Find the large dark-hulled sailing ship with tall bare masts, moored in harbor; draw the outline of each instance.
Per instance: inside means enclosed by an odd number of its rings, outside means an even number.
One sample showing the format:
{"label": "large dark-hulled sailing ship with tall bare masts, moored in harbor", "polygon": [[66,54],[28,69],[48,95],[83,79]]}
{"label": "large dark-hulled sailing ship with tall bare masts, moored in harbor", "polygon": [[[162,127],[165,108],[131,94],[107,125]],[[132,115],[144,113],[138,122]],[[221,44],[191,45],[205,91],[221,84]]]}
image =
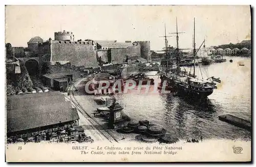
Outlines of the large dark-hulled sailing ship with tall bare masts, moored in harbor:
{"label": "large dark-hulled sailing ship with tall bare masts, moored in harbor", "polygon": [[[176,18],[176,40],[177,40],[177,48],[176,48],[176,63],[177,63],[177,70],[173,72],[167,72],[164,71],[163,75],[161,75],[161,82],[163,83],[165,80],[167,81],[167,87],[171,86],[174,88],[178,94],[181,96],[193,96],[198,98],[207,98],[214,89],[217,88],[216,82],[221,82],[218,79],[214,80],[214,77],[209,77],[208,79],[199,79],[195,74],[195,66],[196,66],[196,55],[197,52],[200,50],[201,46],[199,47],[198,51],[196,52],[196,43],[195,43],[195,18],[194,18],[194,49],[193,49],[193,55],[194,55],[194,74],[188,74],[186,70],[182,71],[180,69],[180,49],[179,49],[179,32],[178,32],[178,25],[177,25],[177,18]],[[166,36],[166,35],[165,35]]]}

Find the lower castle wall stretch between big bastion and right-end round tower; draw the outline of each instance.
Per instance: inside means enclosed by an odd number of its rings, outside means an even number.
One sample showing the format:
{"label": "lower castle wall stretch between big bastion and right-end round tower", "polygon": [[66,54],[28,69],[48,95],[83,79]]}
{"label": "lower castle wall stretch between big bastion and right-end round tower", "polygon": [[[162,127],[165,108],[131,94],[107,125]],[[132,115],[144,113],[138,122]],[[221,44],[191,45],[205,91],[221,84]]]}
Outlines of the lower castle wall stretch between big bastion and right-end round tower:
{"label": "lower castle wall stretch between big bastion and right-end round tower", "polygon": [[125,62],[126,56],[131,60],[140,58],[140,43],[131,47],[111,49],[111,61],[113,64]]}

